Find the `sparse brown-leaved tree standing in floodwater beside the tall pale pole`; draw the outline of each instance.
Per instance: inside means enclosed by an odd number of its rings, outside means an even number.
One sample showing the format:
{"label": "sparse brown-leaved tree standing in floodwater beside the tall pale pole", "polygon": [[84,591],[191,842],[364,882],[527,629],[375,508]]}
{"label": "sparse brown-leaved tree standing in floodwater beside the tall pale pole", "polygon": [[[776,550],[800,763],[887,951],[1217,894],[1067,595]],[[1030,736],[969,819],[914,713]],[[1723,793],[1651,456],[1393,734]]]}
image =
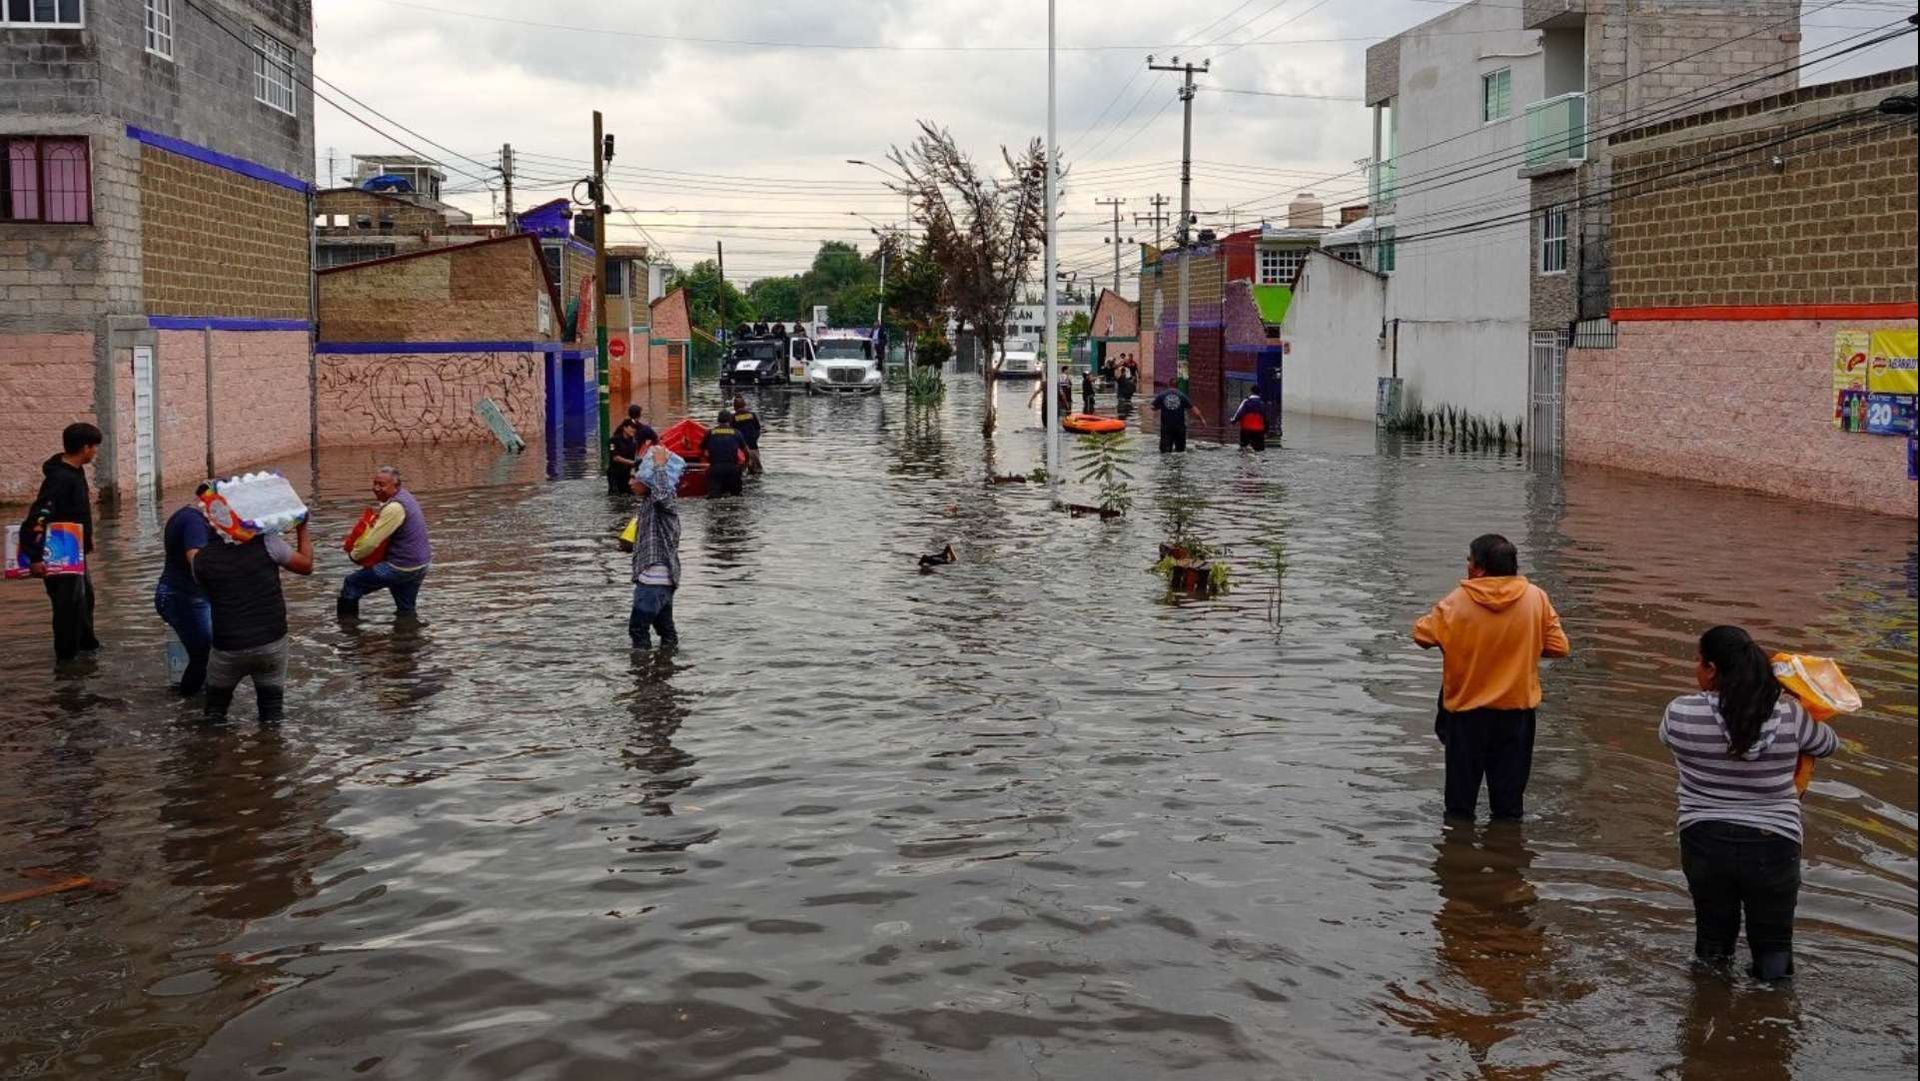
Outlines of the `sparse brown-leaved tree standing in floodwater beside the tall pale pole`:
{"label": "sparse brown-leaved tree standing in floodwater beside the tall pale pole", "polygon": [[[954,315],[973,326],[987,349],[981,378],[987,382],[983,430],[993,438],[998,422],[995,382],[1000,346],[1020,286],[1046,244],[1044,184],[1046,150],[1027,140],[1020,157],[1000,148],[1004,175],[987,175],[964,154],[950,131],[920,121],[920,134],[887,157],[900,171],[893,190],[914,202],[922,244],[947,276]],[[1046,282],[1052,286],[1052,282]]]}

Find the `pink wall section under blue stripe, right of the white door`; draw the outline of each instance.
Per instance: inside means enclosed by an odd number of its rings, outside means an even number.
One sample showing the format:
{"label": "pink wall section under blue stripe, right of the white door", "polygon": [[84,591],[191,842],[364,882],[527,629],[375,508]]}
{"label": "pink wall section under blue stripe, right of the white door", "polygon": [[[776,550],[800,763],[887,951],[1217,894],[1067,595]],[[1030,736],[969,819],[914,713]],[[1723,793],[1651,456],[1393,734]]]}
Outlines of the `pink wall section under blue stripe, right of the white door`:
{"label": "pink wall section under blue stripe, right of the white door", "polygon": [[213,332],[215,468],[234,472],[307,449],[309,351],[305,330]]}

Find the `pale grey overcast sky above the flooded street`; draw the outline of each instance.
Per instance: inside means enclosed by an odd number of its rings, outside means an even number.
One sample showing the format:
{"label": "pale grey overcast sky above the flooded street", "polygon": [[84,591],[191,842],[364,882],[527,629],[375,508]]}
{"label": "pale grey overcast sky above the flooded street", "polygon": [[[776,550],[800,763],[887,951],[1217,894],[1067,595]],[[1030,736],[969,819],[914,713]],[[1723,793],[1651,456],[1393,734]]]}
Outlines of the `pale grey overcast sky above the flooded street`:
{"label": "pale grey overcast sky above the flooded street", "polygon": [[[1150,240],[1154,227],[1133,213],[1148,213],[1156,192],[1179,196],[1179,77],[1148,73],[1148,54],[1213,60],[1198,81],[1217,92],[1194,102],[1194,205],[1244,205],[1258,219],[1302,186],[1331,205],[1365,200],[1352,175],[1371,150],[1357,100],[1365,48],[1448,6],[1190,0],[1175,13],[1183,6],[1165,0],[1060,0],[1060,146],[1071,169],[1064,265],[1083,278],[1110,273],[1112,211],[1096,198],[1125,198],[1123,238]],[[1805,4],[1803,48],[1912,12],[1895,0],[1822,6]],[[618,136],[614,204],[634,209],[680,265],[724,240],[739,282],[804,269],[822,238],[868,244],[854,213],[900,221],[904,200],[845,159],[885,165],[918,119],[995,159],[1000,144],[1046,127],[1043,0],[319,0],[315,38],[321,79],[367,108],[326,83],[319,90],[445,161],[447,186],[461,192],[451,202],[480,219],[493,204],[474,177],[497,165],[501,142],[515,146],[524,209],[588,171],[591,109],[601,109]],[[1811,81],[1912,61],[1905,38]],[[351,154],[403,150],[324,102],[315,109],[323,180],[330,154],[344,175]],[[626,217],[612,225],[612,240],[645,242]]]}

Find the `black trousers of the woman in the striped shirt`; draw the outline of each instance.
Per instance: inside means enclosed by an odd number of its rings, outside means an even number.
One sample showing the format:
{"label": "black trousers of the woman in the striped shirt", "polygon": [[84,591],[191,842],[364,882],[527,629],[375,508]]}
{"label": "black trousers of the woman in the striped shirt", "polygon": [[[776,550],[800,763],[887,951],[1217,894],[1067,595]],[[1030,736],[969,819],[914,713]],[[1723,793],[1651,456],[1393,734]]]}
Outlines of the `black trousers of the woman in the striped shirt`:
{"label": "black trousers of the woman in the striped shirt", "polygon": [[1724,962],[1747,916],[1757,979],[1793,975],[1793,906],[1799,843],[1734,822],[1695,822],[1680,831],[1680,870],[1693,895],[1693,956]]}

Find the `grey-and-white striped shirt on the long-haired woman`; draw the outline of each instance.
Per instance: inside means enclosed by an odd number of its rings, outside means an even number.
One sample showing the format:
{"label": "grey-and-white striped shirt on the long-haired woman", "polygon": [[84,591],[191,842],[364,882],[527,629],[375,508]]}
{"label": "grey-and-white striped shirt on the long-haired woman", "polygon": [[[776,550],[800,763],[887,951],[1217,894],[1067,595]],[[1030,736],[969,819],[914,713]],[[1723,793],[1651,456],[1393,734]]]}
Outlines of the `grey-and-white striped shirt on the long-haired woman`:
{"label": "grey-and-white striped shirt on the long-haired woman", "polygon": [[1720,695],[1701,691],[1667,707],[1661,743],[1672,751],[1680,768],[1680,829],[1697,822],[1734,822],[1799,841],[1793,768],[1801,755],[1826,758],[1839,737],[1830,726],[1807,716],[1799,699],[1782,691],[1753,747],[1736,758],[1728,753]]}

